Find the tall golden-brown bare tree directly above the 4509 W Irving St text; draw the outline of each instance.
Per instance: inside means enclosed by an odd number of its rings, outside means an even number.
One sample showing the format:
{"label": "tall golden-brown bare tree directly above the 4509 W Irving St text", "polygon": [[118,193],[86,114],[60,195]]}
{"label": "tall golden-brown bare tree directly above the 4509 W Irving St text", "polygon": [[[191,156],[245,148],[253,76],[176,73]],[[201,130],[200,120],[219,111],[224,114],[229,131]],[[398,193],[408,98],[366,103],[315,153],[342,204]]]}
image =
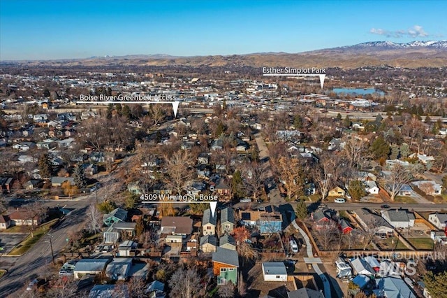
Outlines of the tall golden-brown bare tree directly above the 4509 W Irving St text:
{"label": "tall golden-brown bare tree directly above the 4509 W Irving St text", "polygon": [[192,178],[191,166],[194,159],[186,150],[178,150],[171,157],[166,157],[166,184],[175,189],[177,194],[182,194],[185,184]]}

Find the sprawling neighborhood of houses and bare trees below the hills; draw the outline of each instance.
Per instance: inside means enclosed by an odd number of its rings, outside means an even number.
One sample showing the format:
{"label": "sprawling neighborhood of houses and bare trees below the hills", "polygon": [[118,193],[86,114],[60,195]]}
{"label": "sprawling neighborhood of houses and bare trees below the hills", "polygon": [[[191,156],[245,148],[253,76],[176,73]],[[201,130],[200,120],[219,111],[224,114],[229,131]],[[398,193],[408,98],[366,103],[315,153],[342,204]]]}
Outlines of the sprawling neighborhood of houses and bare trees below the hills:
{"label": "sprawling neighborhood of houses and bare trees below the hills", "polygon": [[0,296],[447,297],[445,70],[259,71],[1,69]]}

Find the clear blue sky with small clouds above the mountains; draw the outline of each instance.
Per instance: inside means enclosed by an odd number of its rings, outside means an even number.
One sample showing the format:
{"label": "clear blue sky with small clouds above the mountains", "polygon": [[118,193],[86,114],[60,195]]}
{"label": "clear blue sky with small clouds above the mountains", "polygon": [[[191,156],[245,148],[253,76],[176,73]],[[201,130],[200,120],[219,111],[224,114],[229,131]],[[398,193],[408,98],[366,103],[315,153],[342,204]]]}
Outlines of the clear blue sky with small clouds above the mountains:
{"label": "clear blue sky with small clouds above the mountains", "polygon": [[0,60],[305,52],[447,39],[447,1],[0,0]]}

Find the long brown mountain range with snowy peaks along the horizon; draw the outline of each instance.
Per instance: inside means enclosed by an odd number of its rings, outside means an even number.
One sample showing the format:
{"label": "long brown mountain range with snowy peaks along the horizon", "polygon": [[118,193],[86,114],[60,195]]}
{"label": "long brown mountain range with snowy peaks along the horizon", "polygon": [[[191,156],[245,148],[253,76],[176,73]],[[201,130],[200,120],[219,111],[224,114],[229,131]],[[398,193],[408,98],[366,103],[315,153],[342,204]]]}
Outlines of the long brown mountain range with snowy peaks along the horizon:
{"label": "long brown mountain range with snowy peaks along the horizon", "polygon": [[[5,64],[6,62],[1,62]],[[372,41],[310,52],[258,52],[246,55],[177,57],[164,54],[90,57],[50,61],[14,62],[29,66],[190,66],[226,67],[341,67],[400,66],[407,68],[447,66],[447,41],[412,41],[393,43]]]}

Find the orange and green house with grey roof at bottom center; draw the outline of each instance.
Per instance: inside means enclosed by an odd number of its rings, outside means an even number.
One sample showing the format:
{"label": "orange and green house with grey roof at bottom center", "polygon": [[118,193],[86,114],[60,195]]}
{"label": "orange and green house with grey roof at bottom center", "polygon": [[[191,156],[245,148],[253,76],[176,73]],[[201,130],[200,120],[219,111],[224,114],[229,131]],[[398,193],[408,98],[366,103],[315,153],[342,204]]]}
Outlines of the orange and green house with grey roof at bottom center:
{"label": "orange and green house with grey roof at bottom center", "polygon": [[230,281],[237,285],[239,255],[236,250],[217,248],[216,252],[212,253],[212,268],[218,285],[225,285]]}

